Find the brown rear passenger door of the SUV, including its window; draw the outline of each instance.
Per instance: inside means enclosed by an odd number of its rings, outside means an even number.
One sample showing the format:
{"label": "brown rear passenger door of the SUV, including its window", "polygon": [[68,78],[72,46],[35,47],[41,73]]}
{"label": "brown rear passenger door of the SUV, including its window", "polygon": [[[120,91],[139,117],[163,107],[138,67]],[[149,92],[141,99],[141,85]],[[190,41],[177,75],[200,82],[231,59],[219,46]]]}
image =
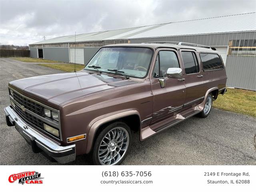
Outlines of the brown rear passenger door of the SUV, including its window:
{"label": "brown rear passenger door of the SUV, including its window", "polygon": [[184,108],[200,104],[203,100],[205,90],[202,86],[203,71],[199,65],[198,53],[195,50],[180,50],[184,67],[184,83],[186,86],[186,98]]}

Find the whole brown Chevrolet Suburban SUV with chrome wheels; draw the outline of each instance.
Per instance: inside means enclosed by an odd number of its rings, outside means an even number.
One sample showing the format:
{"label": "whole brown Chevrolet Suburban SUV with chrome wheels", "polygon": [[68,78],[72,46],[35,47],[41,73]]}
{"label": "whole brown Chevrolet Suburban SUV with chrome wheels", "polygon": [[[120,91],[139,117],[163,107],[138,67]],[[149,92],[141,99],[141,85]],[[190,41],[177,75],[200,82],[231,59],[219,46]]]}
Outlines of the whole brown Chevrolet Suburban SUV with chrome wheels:
{"label": "whole brown Chevrolet Suburban SUV with chrome wheels", "polygon": [[120,164],[131,131],[143,141],[198,114],[226,92],[220,54],[182,42],[102,47],[79,72],[9,83],[6,123],[60,163],[90,154],[93,164]]}

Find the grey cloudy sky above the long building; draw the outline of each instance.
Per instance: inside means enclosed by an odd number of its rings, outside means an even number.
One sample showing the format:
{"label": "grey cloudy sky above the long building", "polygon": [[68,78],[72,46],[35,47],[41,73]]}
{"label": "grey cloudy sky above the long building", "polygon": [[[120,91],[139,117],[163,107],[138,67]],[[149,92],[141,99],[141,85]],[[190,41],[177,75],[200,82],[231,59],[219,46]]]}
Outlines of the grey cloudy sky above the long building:
{"label": "grey cloudy sky above the long building", "polygon": [[0,44],[255,11],[255,0],[0,0]]}

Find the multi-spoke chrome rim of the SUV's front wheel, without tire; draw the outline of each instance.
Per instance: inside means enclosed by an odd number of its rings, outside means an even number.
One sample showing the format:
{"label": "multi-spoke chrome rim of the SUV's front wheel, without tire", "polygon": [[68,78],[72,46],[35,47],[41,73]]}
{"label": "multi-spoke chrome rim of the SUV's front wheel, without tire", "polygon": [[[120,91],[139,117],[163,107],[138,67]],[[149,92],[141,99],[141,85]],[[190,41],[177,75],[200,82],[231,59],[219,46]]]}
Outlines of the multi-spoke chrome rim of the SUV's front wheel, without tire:
{"label": "multi-spoke chrome rim of the SUV's front wheel, without tire", "polygon": [[120,162],[129,146],[129,134],[123,127],[110,130],[100,142],[98,160],[102,165],[114,165]]}

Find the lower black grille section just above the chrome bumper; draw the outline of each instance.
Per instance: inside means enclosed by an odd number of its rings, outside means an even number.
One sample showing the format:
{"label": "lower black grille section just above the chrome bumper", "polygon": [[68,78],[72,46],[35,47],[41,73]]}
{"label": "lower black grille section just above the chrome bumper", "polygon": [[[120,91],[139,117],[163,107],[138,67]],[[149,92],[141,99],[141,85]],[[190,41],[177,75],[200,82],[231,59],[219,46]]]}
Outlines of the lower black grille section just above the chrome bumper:
{"label": "lower black grille section just above the chrome bumper", "polygon": [[44,130],[44,124],[42,120],[32,116],[27,112],[22,111],[22,109],[17,105],[15,106],[14,110],[30,126],[36,126],[36,128]]}

